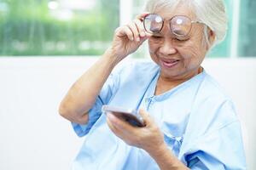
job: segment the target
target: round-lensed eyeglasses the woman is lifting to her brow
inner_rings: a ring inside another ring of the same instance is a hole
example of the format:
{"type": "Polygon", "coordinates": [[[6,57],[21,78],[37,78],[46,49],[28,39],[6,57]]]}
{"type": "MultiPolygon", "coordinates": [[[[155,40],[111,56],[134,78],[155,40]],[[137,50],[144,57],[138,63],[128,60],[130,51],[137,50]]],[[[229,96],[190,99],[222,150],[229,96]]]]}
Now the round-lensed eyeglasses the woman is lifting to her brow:
{"type": "MultiPolygon", "coordinates": [[[[159,14],[148,14],[143,19],[145,30],[152,34],[160,33],[164,26],[164,22],[165,20],[159,14]]],[[[189,17],[184,15],[176,15],[169,20],[172,34],[179,38],[188,37],[192,24],[194,23],[204,24],[200,21],[190,20],[189,17]]]]}

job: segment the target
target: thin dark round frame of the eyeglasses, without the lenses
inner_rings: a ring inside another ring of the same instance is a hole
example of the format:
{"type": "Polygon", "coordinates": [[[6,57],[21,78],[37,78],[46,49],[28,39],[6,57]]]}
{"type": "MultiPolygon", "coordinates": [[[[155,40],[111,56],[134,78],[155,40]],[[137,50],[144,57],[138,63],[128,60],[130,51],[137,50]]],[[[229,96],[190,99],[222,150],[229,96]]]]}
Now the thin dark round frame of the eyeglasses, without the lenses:
{"type": "MultiPolygon", "coordinates": [[[[155,13],[152,13],[152,14],[155,14],[155,13]]],[[[147,31],[146,26],[145,26],[145,18],[146,18],[148,15],[150,15],[150,14],[147,14],[147,15],[144,16],[144,18],[143,18],[143,26],[144,26],[145,31],[147,31]]],[[[156,15],[160,16],[160,14],[156,14],[156,15]]],[[[161,17],[161,16],[160,16],[160,18],[162,19],[162,26],[161,26],[161,28],[160,28],[160,31],[162,31],[166,20],[163,19],[163,17],[161,17]]],[[[191,20],[188,16],[186,16],[186,15],[179,15],[179,14],[172,16],[172,18],[171,18],[171,19],[168,19],[167,21],[169,21],[169,26],[170,26],[170,30],[172,31],[172,34],[174,34],[174,35],[177,36],[177,37],[187,37],[187,36],[189,35],[191,29],[192,29],[192,24],[203,24],[203,25],[206,25],[204,22],[201,22],[201,21],[199,21],[199,20],[191,20]],[[190,26],[189,31],[188,31],[188,33],[187,33],[186,35],[178,35],[178,34],[176,34],[174,31],[172,31],[171,20],[172,20],[174,17],[177,17],[177,16],[183,16],[183,17],[186,17],[186,18],[188,18],[188,19],[190,20],[191,26],[190,26]]],[[[158,31],[157,33],[160,33],[160,31],[158,31]]],[[[151,33],[151,32],[149,32],[149,33],[151,33]]]]}

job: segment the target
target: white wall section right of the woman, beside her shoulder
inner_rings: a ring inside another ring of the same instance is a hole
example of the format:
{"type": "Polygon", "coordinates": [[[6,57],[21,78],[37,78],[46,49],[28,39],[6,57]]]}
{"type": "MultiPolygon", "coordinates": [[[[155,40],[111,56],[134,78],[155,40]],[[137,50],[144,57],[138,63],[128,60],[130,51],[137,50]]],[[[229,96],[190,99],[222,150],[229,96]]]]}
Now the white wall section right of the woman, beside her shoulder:
{"type": "Polygon", "coordinates": [[[256,58],[207,59],[207,71],[230,94],[241,119],[247,169],[256,169],[256,58]]]}

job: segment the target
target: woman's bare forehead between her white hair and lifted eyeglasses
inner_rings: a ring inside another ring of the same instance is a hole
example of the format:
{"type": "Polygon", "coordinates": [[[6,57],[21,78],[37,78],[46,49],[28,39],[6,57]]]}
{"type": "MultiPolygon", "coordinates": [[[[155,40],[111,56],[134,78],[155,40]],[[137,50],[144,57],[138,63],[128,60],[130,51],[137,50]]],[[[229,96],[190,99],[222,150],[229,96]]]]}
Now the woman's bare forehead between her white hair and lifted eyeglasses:
{"type": "Polygon", "coordinates": [[[188,16],[190,20],[196,19],[195,11],[193,10],[193,8],[189,7],[189,5],[184,3],[173,5],[171,8],[156,8],[154,13],[160,14],[160,16],[165,20],[171,19],[175,15],[185,15],[188,16]]]}

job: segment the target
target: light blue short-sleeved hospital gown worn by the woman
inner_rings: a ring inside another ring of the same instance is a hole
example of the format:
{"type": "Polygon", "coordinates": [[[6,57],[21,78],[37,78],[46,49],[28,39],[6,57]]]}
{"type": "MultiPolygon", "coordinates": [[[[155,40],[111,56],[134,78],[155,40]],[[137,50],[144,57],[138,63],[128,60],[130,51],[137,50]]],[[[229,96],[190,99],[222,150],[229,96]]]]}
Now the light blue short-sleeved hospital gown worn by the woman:
{"type": "Polygon", "coordinates": [[[160,67],[136,62],[115,69],[104,84],[86,125],[72,123],[84,136],[73,170],[157,170],[145,150],[116,137],[102,105],[143,108],[154,117],[172,153],[191,169],[246,169],[240,122],[234,105],[206,71],[155,96],[160,67]]]}

